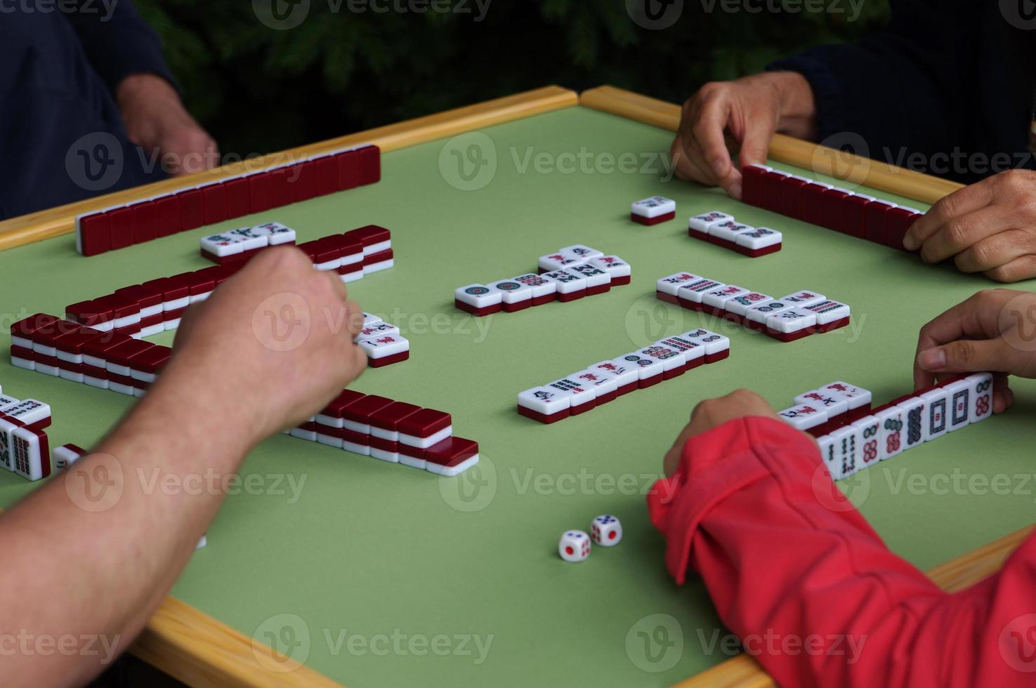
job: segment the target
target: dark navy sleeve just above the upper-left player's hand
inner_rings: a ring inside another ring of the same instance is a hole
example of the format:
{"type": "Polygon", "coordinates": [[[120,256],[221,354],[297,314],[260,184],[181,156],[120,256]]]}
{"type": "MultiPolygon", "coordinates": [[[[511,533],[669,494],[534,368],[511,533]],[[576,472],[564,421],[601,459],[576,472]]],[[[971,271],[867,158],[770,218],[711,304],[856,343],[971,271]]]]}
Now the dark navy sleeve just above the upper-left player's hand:
{"type": "Polygon", "coordinates": [[[176,87],[162,57],[162,45],[132,0],[75,0],[79,11],[65,15],[90,64],[112,93],[126,77],[153,74],[176,87]]]}

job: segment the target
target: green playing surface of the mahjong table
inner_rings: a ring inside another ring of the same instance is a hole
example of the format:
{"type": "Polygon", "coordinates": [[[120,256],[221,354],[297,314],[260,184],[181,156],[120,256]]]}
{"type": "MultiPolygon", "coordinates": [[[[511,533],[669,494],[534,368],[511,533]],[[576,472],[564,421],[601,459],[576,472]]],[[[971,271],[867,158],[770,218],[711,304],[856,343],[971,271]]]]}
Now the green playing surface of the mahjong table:
{"type": "MultiPolygon", "coordinates": [[[[386,153],[380,183],[213,228],[90,259],[68,236],[4,252],[0,345],[20,317],[60,315],[67,304],[206,266],[198,239],[215,229],[277,220],[305,240],[388,227],[395,267],[350,292],[402,328],[411,357],[353,386],[453,413],[455,433],[480,442],[482,463],[438,479],[275,436],[244,462],[251,487],[227,498],[173,595],[353,686],[668,685],[729,650],[700,581],[678,587],[667,575],[644,506],[694,404],[751,388],[783,408],[836,379],[872,390],[875,401],[905,394],[918,328],[991,286],[668,181],[657,156],[670,140],[571,108],[386,153]],[[481,176],[476,160],[488,162],[481,176]],[[615,170],[624,160],[637,164],[615,170]],[[631,223],[630,203],[652,195],[675,199],[678,220],[631,223]],[[784,249],[749,259],[688,238],[687,218],[713,209],[780,229],[784,249]],[[572,243],[625,258],[632,284],[484,319],[454,309],[456,287],[535,270],[538,256],[572,243]],[[678,270],[774,296],[818,290],[850,304],[853,322],[781,344],[657,300],[655,281],[678,270]],[[728,360],[551,426],[515,412],[522,390],[699,325],[730,337],[728,360]],[[583,564],[562,562],[562,532],[588,531],[602,513],[622,520],[623,543],[583,564]]],[[[154,341],[171,342],[171,333],[154,341]]],[[[0,384],[53,406],[52,446],[89,447],[133,403],[15,369],[6,355],[0,384]]],[[[929,568],[1033,522],[1036,389],[1017,383],[1016,394],[1010,413],[843,484],[894,551],[929,568]],[[998,476],[1009,489],[987,484],[998,476]]],[[[228,423],[234,413],[227,408],[228,423]]],[[[0,505],[34,487],[0,475],[0,505]]]]}

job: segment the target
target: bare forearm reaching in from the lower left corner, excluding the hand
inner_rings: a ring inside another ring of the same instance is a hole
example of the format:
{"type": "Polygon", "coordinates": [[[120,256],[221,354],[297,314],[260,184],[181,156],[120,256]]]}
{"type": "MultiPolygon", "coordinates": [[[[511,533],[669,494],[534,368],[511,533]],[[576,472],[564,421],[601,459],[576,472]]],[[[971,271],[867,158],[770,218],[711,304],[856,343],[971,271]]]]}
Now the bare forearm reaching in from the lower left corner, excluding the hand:
{"type": "Polygon", "coordinates": [[[0,633],[73,636],[81,651],[6,657],[13,685],[81,684],[103,670],[146,624],[223,500],[219,479],[248,443],[199,420],[208,414],[198,397],[164,382],[93,454],[0,518],[9,581],[0,633]]]}

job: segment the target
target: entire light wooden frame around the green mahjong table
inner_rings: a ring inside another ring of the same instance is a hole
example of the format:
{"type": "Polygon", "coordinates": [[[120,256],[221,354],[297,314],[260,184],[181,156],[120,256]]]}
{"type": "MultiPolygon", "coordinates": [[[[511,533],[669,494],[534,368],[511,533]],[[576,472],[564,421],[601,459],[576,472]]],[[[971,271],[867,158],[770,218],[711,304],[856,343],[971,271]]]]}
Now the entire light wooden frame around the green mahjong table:
{"type": "MultiPolygon", "coordinates": [[[[0,251],[71,233],[76,216],[83,212],[222,179],[239,173],[242,167],[249,170],[264,169],[285,160],[300,160],[315,153],[359,143],[374,143],[380,146],[382,151],[387,152],[577,106],[601,110],[669,131],[675,131],[680,123],[680,106],[663,101],[611,86],[601,86],[582,94],[557,86],[548,86],[13,218],[0,222],[0,251]]],[[[960,188],[959,184],[950,181],[782,135],[774,137],[770,146],[770,157],[812,169],[819,174],[838,178],[847,177],[871,189],[927,203],[933,203],[960,188]]],[[[83,258],[83,260],[89,259],[83,258]]],[[[998,571],[1007,556],[1031,532],[1032,528],[1029,527],[1012,533],[937,567],[928,572],[928,576],[944,590],[951,592],[972,585],[998,571]]],[[[286,672],[266,668],[266,665],[276,665],[270,648],[172,597],[167,597],[159,606],[144,631],[130,648],[130,652],[178,681],[196,688],[340,685],[303,665],[286,672]]],[[[692,686],[760,688],[774,685],[773,680],[746,655],[727,660],[680,684],[684,688],[692,686]]]]}

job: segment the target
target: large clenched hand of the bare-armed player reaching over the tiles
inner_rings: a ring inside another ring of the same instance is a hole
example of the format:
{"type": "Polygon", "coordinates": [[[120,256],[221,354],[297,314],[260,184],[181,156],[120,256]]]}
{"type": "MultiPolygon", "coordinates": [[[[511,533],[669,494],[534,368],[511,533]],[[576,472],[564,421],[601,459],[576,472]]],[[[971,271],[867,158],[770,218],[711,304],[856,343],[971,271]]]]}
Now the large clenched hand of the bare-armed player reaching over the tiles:
{"type": "MultiPolygon", "coordinates": [[[[190,394],[203,419],[233,417],[246,448],[319,412],[367,368],[363,325],[338,275],[300,251],[267,249],[192,305],[174,354],[145,397],[190,394]]],[[[194,406],[193,406],[194,407],[194,406]]]]}

